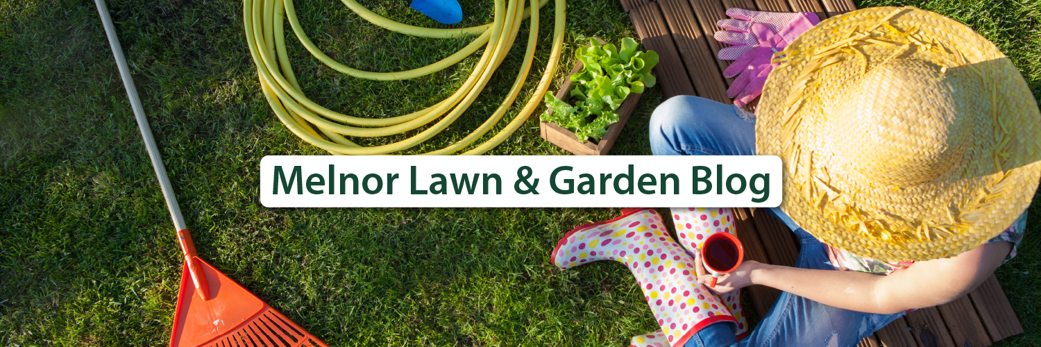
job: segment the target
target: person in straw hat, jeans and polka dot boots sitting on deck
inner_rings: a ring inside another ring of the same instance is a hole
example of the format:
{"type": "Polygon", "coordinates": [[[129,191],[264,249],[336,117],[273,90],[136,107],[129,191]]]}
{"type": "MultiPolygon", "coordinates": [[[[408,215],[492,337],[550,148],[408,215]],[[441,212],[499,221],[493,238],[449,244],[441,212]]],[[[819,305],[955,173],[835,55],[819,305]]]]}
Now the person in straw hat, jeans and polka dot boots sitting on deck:
{"type": "Polygon", "coordinates": [[[729,208],[674,208],[676,239],[654,209],[627,209],[553,250],[561,269],[630,269],[662,328],[634,346],[854,346],[1015,256],[1041,114],[992,43],[931,11],[873,7],[820,22],[770,64],[756,114],[674,97],[652,116],[651,147],[780,156],[784,201],[766,210],[802,242],[794,268],[745,261],[704,286],[700,242],[735,232],[729,208]],[[735,293],[752,284],[784,293],[748,331],[735,293]]]}

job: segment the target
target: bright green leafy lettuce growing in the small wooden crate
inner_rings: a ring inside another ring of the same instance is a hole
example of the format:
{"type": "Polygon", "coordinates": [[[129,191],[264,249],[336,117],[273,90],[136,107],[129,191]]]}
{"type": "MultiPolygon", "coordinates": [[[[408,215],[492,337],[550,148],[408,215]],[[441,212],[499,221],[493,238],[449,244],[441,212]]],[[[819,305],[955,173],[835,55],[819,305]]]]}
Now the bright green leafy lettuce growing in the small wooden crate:
{"type": "Polygon", "coordinates": [[[582,71],[569,77],[575,88],[568,95],[578,101],[573,106],[547,94],[549,109],[542,121],[557,123],[579,139],[603,138],[607,127],[618,121],[617,109],[626,97],[643,93],[657,82],[651,69],[658,65],[658,53],[637,51],[638,46],[626,38],[620,50],[611,44],[602,46],[595,39],[589,40],[589,46],[579,47],[575,57],[582,61],[582,71]]]}

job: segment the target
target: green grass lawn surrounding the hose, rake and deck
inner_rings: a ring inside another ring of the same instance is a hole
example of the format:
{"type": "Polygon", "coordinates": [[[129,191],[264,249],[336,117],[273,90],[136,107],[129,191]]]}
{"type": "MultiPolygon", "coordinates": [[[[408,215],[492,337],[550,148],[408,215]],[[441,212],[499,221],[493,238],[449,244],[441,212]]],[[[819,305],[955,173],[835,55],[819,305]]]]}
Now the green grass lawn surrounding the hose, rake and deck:
{"type": "MultiPolygon", "coordinates": [[[[438,26],[405,0],[361,3],[438,26]]],[[[461,3],[463,25],[490,21],[490,1],[461,3]]],[[[884,4],[897,3],[858,3],[884,4]]],[[[994,41],[1041,97],[1041,1],[915,4],[994,41]]],[[[324,152],[287,131],[263,100],[242,3],[108,6],[200,255],[326,342],[623,346],[658,328],[624,267],[549,263],[564,231],[617,208],[261,206],[261,157],[324,152]]],[[[362,70],[421,67],[467,43],[390,33],[334,0],[296,6],[316,45],[362,70]]],[[[542,10],[542,49],[520,100],[545,66],[552,9],[542,10]]],[[[614,0],[569,0],[568,14],[566,57],[587,36],[635,36],[614,0]]],[[[308,96],[355,116],[421,109],[455,91],[477,61],[410,81],[359,80],[287,35],[308,96]]],[[[443,147],[483,122],[513,82],[523,41],[460,121],[410,152],[443,147]]],[[[643,96],[613,154],[650,154],[645,129],[661,101],[658,88],[643,96]]],[[[538,139],[533,121],[492,153],[564,154],[538,139]]],[[[1041,202],[1030,219],[1019,256],[997,271],[1026,332],[1001,346],[1041,345],[1041,202]]],[[[167,344],[182,262],[173,231],[93,2],[0,0],[0,345],[167,344]]]]}

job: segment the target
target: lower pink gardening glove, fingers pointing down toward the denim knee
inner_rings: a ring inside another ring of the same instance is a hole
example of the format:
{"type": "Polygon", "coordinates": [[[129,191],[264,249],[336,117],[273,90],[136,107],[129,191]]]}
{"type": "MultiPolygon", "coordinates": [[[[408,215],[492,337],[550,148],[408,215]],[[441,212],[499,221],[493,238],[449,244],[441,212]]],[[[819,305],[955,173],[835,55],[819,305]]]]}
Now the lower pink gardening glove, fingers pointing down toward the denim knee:
{"type": "Polygon", "coordinates": [[[729,73],[728,77],[740,74],[727,90],[727,97],[734,99],[734,104],[738,106],[748,104],[763,93],[766,77],[777,66],[770,63],[773,53],[780,51],[775,47],[787,46],[784,38],[763,24],[753,23],[750,29],[759,44],[738,57],[725,72],[729,73]]]}

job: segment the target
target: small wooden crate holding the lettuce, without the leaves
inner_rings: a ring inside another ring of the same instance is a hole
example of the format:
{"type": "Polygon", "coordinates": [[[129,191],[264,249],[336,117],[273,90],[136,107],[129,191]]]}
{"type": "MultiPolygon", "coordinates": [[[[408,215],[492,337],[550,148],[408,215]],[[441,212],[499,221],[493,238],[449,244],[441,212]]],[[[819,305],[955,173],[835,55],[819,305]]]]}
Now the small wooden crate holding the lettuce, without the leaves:
{"type": "MultiPolygon", "coordinates": [[[[603,40],[600,41],[601,45],[606,44],[603,40]]],[[[567,76],[574,75],[579,71],[582,71],[582,61],[575,63],[575,69],[567,76]]],[[[560,86],[560,91],[557,91],[557,99],[568,102],[570,97],[568,94],[572,93],[572,89],[575,88],[575,82],[570,78],[564,80],[564,84],[560,86]]],[[[621,127],[626,126],[626,121],[629,120],[629,116],[632,116],[633,110],[636,109],[636,103],[639,102],[641,94],[630,93],[626,100],[621,102],[621,106],[618,107],[618,121],[607,127],[607,132],[604,133],[604,138],[600,139],[598,142],[585,141],[588,139],[579,140],[575,135],[575,132],[568,130],[565,127],[557,125],[553,122],[539,122],[538,123],[538,133],[542,139],[549,141],[550,143],[557,145],[557,147],[563,148],[564,150],[572,152],[575,155],[607,155],[611,151],[611,147],[614,146],[614,142],[618,140],[618,135],[621,133],[621,127]]],[[[552,110],[550,111],[552,114],[552,110]]]]}

